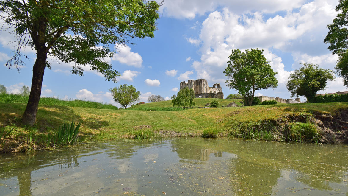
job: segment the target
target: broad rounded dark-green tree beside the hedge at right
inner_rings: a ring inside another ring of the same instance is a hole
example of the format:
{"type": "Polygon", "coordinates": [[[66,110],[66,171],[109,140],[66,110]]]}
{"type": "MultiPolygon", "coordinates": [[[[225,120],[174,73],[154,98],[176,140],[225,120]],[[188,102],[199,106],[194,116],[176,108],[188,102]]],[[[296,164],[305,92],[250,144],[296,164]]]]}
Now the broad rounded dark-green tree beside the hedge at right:
{"type": "Polygon", "coordinates": [[[324,90],[328,80],[333,81],[335,76],[329,69],[318,68],[318,65],[303,63],[300,69],[290,74],[286,88],[291,97],[305,96],[311,102],[319,90],[324,90]]]}

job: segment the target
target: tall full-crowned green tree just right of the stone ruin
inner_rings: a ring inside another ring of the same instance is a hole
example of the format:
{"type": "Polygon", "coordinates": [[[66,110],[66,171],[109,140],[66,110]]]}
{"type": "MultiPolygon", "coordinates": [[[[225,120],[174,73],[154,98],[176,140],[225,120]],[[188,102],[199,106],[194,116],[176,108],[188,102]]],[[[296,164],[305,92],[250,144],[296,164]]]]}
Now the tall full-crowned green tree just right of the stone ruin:
{"type": "Polygon", "coordinates": [[[259,48],[245,52],[232,50],[223,72],[230,78],[226,81],[227,86],[244,95],[246,106],[252,105],[256,90],[277,87],[277,72],[273,71],[262,52],[259,48]]]}

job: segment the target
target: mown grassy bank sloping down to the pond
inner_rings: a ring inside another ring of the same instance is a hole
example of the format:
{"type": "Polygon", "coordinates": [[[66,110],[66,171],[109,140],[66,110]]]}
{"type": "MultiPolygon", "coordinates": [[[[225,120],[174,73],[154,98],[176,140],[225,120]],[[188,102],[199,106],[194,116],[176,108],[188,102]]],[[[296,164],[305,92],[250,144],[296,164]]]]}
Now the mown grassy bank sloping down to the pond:
{"type": "MultiPolygon", "coordinates": [[[[4,131],[13,128],[10,137],[14,138],[14,143],[8,144],[13,145],[12,149],[15,149],[16,145],[18,147],[21,141],[27,141],[28,136],[31,136],[37,145],[47,144],[45,141],[47,134],[57,131],[64,120],[75,122],[83,120],[80,141],[85,142],[117,138],[182,136],[325,142],[322,138],[327,137],[325,119],[331,119],[333,124],[338,123],[334,121],[338,117],[341,121],[348,121],[344,119],[348,118],[347,115],[339,116],[339,112],[348,111],[348,103],[197,108],[181,111],[106,110],[39,105],[37,124],[34,127],[25,127],[21,126],[20,121],[24,108],[25,104],[0,103],[0,128],[4,131]],[[312,137],[307,137],[308,134],[312,134],[312,137]]],[[[343,133],[344,128],[337,128],[336,131],[343,133]]],[[[332,138],[326,140],[327,143],[332,142],[332,138]]],[[[25,148],[28,146],[17,151],[25,148]]]]}

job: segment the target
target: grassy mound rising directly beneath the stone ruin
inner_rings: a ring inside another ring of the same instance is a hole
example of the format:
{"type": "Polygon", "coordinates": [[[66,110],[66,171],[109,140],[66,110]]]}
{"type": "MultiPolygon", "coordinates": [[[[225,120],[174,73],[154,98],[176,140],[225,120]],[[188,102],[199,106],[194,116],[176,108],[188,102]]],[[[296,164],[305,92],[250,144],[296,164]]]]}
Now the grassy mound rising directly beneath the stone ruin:
{"type": "MultiPolygon", "coordinates": [[[[199,106],[199,107],[204,107],[205,104],[210,103],[212,100],[217,100],[220,104],[220,107],[222,105],[227,105],[231,102],[235,102],[237,105],[242,106],[243,104],[239,103],[239,101],[242,100],[238,100],[238,99],[215,99],[215,98],[196,98],[194,99],[196,105],[195,106],[199,106]]],[[[158,101],[155,103],[147,103],[147,104],[140,104],[140,105],[134,105],[131,108],[135,109],[135,108],[147,108],[147,107],[172,107],[172,101],[168,100],[168,101],[158,101]]]]}

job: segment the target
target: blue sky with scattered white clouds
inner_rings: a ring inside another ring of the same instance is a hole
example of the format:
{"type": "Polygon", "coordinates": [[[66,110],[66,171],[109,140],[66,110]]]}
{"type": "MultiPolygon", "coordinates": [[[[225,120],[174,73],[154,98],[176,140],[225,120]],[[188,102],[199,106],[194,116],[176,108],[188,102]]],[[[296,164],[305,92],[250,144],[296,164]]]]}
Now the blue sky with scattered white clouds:
{"type": "MultiPolygon", "coordinates": [[[[65,100],[92,100],[120,106],[109,89],[120,84],[134,85],[141,101],[151,95],[170,99],[180,90],[180,82],[206,79],[209,86],[220,83],[224,97],[238,93],[229,89],[223,74],[233,49],[264,50],[270,66],[277,72],[278,86],[261,89],[256,96],[291,98],[286,82],[300,63],[318,64],[332,69],[337,55],[332,55],[323,40],[326,26],[336,17],[338,0],[164,0],[153,38],[133,39],[134,45],[112,46],[118,51],[105,59],[121,76],[117,83],[105,81],[97,72],[85,67],[84,76],[71,74],[73,64],[49,58],[45,69],[41,97],[65,100]]],[[[9,93],[18,93],[23,85],[31,86],[35,51],[27,47],[28,56],[20,72],[7,67],[16,40],[9,31],[0,34],[0,84],[9,93]]],[[[329,81],[318,93],[348,91],[342,78],[329,81]]],[[[294,97],[295,98],[295,97],[294,97]]],[[[305,99],[300,97],[301,100],[305,99]]]]}

